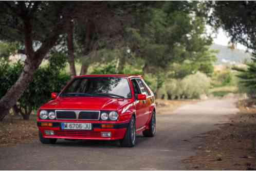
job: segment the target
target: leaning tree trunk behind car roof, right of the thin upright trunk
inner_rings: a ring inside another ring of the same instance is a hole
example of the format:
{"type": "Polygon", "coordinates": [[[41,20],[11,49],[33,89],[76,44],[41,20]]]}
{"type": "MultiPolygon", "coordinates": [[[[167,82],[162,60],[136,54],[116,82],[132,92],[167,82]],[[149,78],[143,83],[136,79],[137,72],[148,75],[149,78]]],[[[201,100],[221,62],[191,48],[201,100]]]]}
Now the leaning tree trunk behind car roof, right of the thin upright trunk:
{"type": "MultiPolygon", "coordinates": [[[[85,31],[86,31],[86,36],[85,36],[85,41],[84,41],[83,58],[88,58],[89,52],[92,51],[92,41],[93,41],[93,36],[95,33],[95,25],[92,20],[88,20],[88,22],[86,24],[85,31]]],[[[80,75],[86,74],[88,68],[89,68],[88,60],[84,59],[82,61],[80,75]]]]}

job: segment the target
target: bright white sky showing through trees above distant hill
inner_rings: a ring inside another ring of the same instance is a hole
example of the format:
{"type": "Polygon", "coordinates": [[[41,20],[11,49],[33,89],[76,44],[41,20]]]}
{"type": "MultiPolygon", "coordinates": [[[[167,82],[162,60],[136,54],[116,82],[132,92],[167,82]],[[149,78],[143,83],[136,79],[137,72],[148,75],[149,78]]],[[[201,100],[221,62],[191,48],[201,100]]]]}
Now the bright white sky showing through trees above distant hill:
{"type": "MultiPolygon", "coordinates": [[[[214,44],[228,46],[230,41],[230,37],[228,37],[227,33],[223,29],[219,29],[217,34],[211,33],[212,28],[210,26],[206,26],[207,32],[212,34],[214,44]]],[[[246,47],[241,44],[236,44],[237,49],[246,50],[246,47]]]]}

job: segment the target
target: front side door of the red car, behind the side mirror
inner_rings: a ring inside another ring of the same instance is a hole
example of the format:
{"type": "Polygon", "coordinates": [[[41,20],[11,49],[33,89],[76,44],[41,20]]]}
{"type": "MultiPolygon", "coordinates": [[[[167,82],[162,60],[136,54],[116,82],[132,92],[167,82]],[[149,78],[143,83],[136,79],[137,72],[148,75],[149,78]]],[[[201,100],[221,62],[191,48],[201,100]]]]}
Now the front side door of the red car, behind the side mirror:
{"type": "Polygon", "coordinates": [[[138,94],[141,94],[140,87],[135,78],[131,79],[133,91],[135,95],[135,109],[136,109],[136,130],[143,126],[144,103],[142,100],[137,100],[138,94]]]}

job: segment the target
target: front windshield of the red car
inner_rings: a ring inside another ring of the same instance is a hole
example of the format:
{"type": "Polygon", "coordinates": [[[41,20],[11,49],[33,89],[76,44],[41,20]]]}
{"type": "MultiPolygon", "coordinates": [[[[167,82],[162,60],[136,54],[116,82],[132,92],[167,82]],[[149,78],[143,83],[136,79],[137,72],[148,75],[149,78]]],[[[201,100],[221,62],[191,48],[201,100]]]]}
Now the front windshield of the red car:
{"type": "Polygon", "coordinates": [[[120,77],[84,77],[74,79],[61,97],[107,96],[132,98],[128,80],[120,77]]]}

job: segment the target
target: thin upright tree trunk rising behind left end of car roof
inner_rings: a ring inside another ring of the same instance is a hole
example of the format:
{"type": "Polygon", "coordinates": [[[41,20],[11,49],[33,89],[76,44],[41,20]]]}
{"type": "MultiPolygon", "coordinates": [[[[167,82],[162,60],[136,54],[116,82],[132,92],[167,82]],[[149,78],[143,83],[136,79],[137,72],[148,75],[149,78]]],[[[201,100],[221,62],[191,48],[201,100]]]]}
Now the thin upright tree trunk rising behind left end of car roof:
{"type": "Polygon", "coordinates": [[[74,23],[70,21],[67,33],[68,63],[71,77],[76,76],[75,55],[74,55],[74,23]]]}

